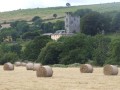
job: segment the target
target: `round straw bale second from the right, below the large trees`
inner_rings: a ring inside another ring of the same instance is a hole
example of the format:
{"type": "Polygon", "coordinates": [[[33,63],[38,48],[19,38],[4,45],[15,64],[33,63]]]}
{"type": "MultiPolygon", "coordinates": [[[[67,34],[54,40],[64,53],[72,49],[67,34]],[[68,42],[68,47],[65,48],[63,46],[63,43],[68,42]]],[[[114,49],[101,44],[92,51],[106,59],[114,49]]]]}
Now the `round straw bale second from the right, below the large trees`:
{"type": "Polygon", "coordinates": [[[82,64],[80,66],[80,72],[81,73],[92,73],[93,72],[93,67],[90,64],[82,64]]]}

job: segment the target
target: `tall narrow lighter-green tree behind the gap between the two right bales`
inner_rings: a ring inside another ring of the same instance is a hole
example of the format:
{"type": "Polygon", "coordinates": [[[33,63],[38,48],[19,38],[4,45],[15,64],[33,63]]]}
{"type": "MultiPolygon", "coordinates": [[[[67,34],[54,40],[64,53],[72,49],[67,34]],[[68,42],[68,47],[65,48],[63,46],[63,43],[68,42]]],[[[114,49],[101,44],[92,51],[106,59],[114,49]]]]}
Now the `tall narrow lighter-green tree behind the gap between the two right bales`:
{"type": "Polygon", "coordinates": [[[97,66],[103,66],[107,60],[111,39],[104,35],[97,35],[94,39],[94,64],[97,66]]]}

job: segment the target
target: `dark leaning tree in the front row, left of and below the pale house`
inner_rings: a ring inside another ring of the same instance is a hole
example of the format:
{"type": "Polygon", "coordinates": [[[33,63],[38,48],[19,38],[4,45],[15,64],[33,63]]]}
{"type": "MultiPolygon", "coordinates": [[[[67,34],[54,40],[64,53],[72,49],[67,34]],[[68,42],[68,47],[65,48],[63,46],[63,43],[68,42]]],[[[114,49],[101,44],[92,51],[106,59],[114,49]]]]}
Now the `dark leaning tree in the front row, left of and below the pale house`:
{"type": "Polygon", "coordinates": [[[24,58],[28,60],[36,60],[41,49],[50,41],[48,36],[36,37],[33,41],[28,43],[24,50],[24,58]]]}

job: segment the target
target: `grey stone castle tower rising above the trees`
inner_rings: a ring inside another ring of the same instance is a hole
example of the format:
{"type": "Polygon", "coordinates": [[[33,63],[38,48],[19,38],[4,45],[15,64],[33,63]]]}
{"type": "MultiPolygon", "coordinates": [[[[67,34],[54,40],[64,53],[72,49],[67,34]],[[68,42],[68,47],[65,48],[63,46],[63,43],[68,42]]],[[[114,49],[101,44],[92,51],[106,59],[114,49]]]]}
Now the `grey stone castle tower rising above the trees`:
{"type": "Polygon", "coordinates": [[[65,30],[67,34],[80,32],[80,17],[72,15],[71,12],[66,12],[65,30]]]}

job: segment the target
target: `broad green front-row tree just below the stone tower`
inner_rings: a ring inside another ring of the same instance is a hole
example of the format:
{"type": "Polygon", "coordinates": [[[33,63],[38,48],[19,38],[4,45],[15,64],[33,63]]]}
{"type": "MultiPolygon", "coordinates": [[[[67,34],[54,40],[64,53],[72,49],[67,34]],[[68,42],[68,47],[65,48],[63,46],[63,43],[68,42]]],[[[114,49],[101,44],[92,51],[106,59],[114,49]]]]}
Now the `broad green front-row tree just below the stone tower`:
{"type": "Polygon", "coordinates": [[[84,34],[74,35],[59,39],[63,43],[60,53],[60,63],[85,63],[92,59],[93,41],[90,36],[84,34]]]}

